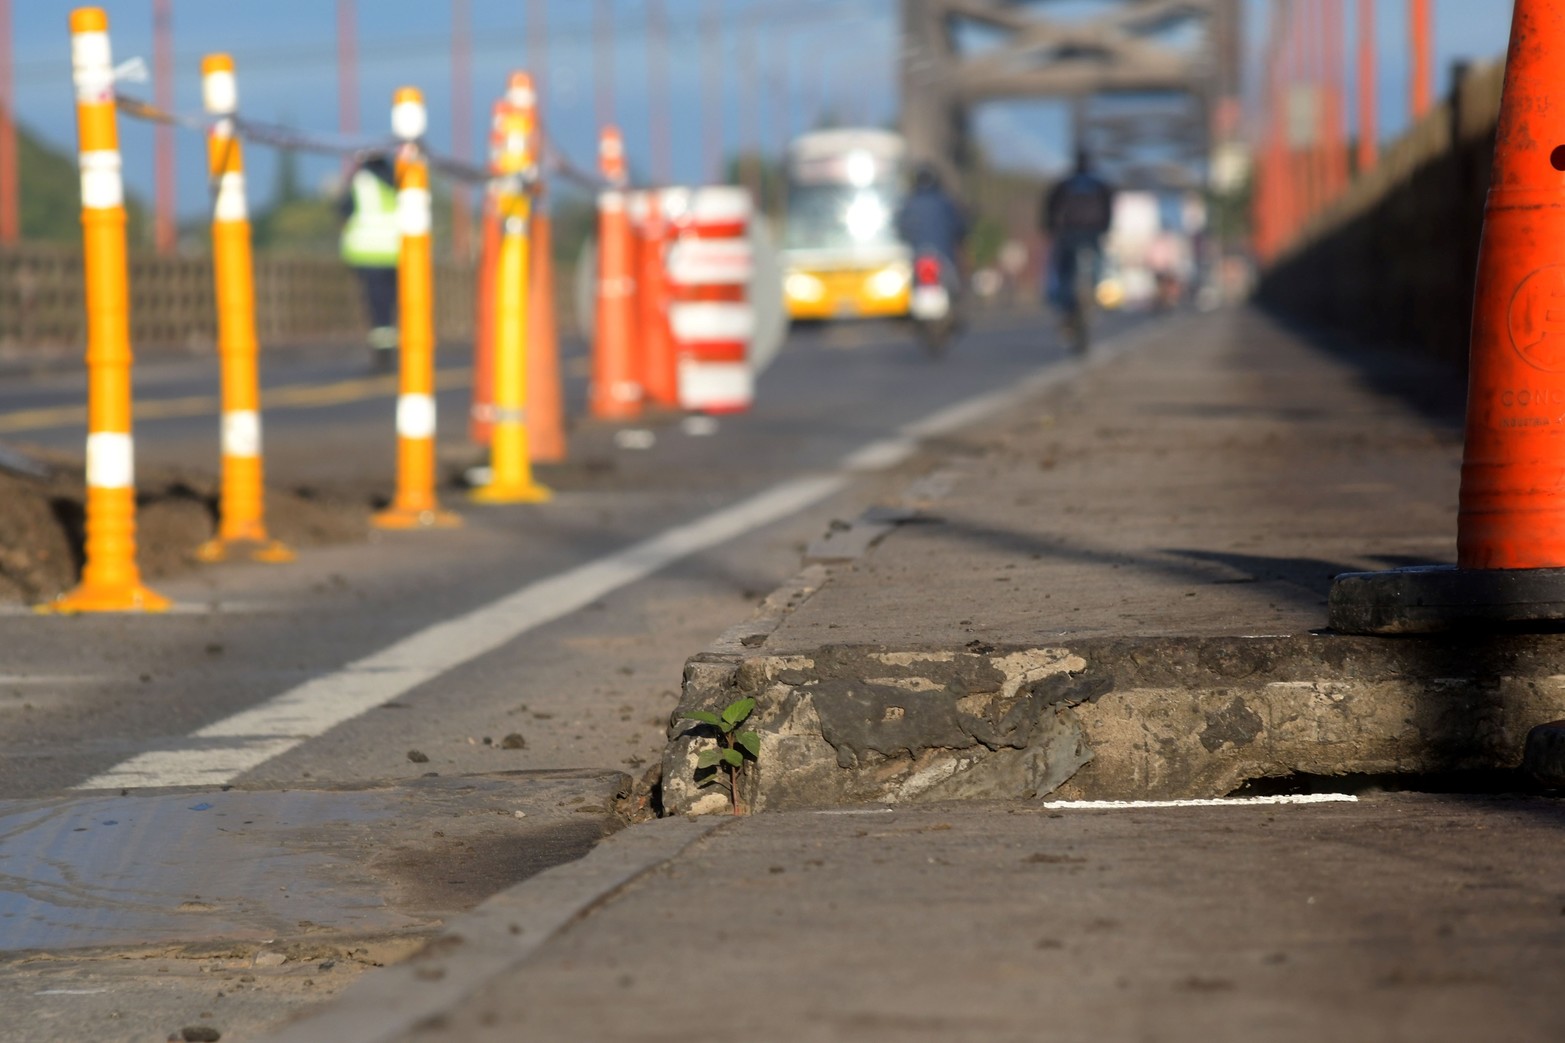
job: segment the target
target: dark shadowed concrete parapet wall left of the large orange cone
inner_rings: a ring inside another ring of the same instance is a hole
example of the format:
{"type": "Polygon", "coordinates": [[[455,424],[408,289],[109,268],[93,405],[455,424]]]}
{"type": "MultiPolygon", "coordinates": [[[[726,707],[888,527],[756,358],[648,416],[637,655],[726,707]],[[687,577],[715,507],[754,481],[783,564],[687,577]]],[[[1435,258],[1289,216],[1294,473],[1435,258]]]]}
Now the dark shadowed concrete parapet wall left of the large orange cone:
{"type": "Polygon", "coordinates": [[[1504,66],[1459,75],[1263,274],[1258,299],[1316,326],[1466,365],[1504,66]]]}

